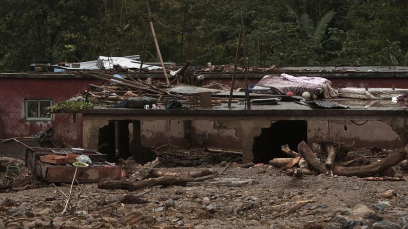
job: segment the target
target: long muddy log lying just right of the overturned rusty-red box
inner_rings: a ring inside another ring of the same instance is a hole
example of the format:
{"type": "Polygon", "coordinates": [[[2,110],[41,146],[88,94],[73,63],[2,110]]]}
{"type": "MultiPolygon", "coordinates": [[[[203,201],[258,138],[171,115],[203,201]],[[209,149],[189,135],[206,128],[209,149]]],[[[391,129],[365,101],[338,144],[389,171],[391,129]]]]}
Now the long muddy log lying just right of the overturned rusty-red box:
{"type": "Polygon", "coordinates": [[[185,186],[187,182],[191,182],[191,178],[185,177],[158,177],[149,178],[140,181],[101,181],[98,183],[98,189],[122,189],[122,190],[139,190],[158,185],[182,185],[185,186]]]}

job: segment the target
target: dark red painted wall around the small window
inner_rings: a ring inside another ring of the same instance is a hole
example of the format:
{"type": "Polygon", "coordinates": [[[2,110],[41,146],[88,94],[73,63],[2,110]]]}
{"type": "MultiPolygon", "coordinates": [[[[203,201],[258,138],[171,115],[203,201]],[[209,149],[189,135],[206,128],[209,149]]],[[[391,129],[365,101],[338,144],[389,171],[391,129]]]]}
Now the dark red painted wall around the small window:
{"type": "Polygon", "coordinates": [[[54,139],[82,146],[82,115],[57,114],[51,121],[26,120],[25,99],[50,98],[53,103],[65,101],[100,80],[82,78],[0,78],[0,117],[4,138],[34,136],[54,126],[54,139]]]}

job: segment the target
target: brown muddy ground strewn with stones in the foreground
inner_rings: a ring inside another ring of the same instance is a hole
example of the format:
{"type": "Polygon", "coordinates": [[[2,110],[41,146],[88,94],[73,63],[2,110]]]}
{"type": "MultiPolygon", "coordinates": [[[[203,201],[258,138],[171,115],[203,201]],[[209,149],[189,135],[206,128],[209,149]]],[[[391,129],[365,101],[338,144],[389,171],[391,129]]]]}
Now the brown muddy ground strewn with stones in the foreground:
{"type": "MultiPolygon", "coordinates": [[[[220,175],[225,162],[218,163],[218,159],[214,159],[217,164],[198,159],[193,167],[158,168],[177,173],[204,169],[216,172],[216,179],[187,186],[155,186],[130,192],[102,190],[98,184],[84,183],[70,191],[69,186],[38,181],[37,185],[44,188],[3,191],[0,228],[381,228],[373,223],[398,225],[397,217],[408,211],[406,180],[365,181],[323,175],[298,178],[271,165],[245,169],[237,162],[230,162],[220,175]],[[71,201],[64,212],[70,192],[71,201]],[[296,201],[304,205],[282,214],[296,206],[296,201]],[[362,215],[369,212],[373,219],[358,215],[356,211],[361,208],[365,209],[362,215]],[[339,215],[346,220],[343,222],[339,215]],[[352,225],[355,221],[357,227],[352,225]]],[[[129,176],[132,162],[126,163],[129,176]]],[[[13,179],[31,176],[22,170],[13,179]]],[[[408,178],[398,165],[394,170],[408,178]]],[[[0,177],[4,174],[0,173],[0,177]]],[[[383,228],[407,228],[404,222],[399,227],[383,228]]]]}

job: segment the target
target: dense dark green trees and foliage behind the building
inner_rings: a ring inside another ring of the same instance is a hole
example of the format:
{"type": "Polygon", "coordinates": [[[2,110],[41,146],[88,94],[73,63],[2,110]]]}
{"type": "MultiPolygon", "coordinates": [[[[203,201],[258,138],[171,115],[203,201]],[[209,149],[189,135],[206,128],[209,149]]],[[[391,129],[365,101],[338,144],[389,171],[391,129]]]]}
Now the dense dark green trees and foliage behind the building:
{"type": "MultiPolygon", "coordinates": [[[[146,2],[3,0],[0,70],[144,50],[158,61],[146,2]]],[[[249,65],[408,63],[405,0],[148,2],[165,61],[233,63],[242,15],[249,65]]]]}

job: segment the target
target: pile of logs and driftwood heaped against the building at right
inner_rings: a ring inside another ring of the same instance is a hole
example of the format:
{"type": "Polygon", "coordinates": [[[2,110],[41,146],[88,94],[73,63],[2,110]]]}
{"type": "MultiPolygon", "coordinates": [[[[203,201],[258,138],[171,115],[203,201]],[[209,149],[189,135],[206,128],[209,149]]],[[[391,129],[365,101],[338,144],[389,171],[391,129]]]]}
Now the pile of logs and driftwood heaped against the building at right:
{"type": "Polygon", "coordinates": [[[304,141],[298,145],[299,153],[283,145],[282,151],[290,157],[274,158],[269,161],[269,164],[286,171],[289,176],[324,174],[332,177],[368,177],[372,180],[405,180],[401,177],[394,177],[396,172],[392,167],[400,164],[401,170],[408,169],[406,149],[396,150],[389,154],[390,152],[372,148],[370,156],[367,156],[367,153],[361,156],[357,151],[352,151],[353,148],[349,145],[331,140],[321,140],[318,145],[316,153],[304,141]],[[383,159],[378,160],[379,158],[383,159]],[[372,162],[370,159],[376,159],[376,161],[372,162]]]}

